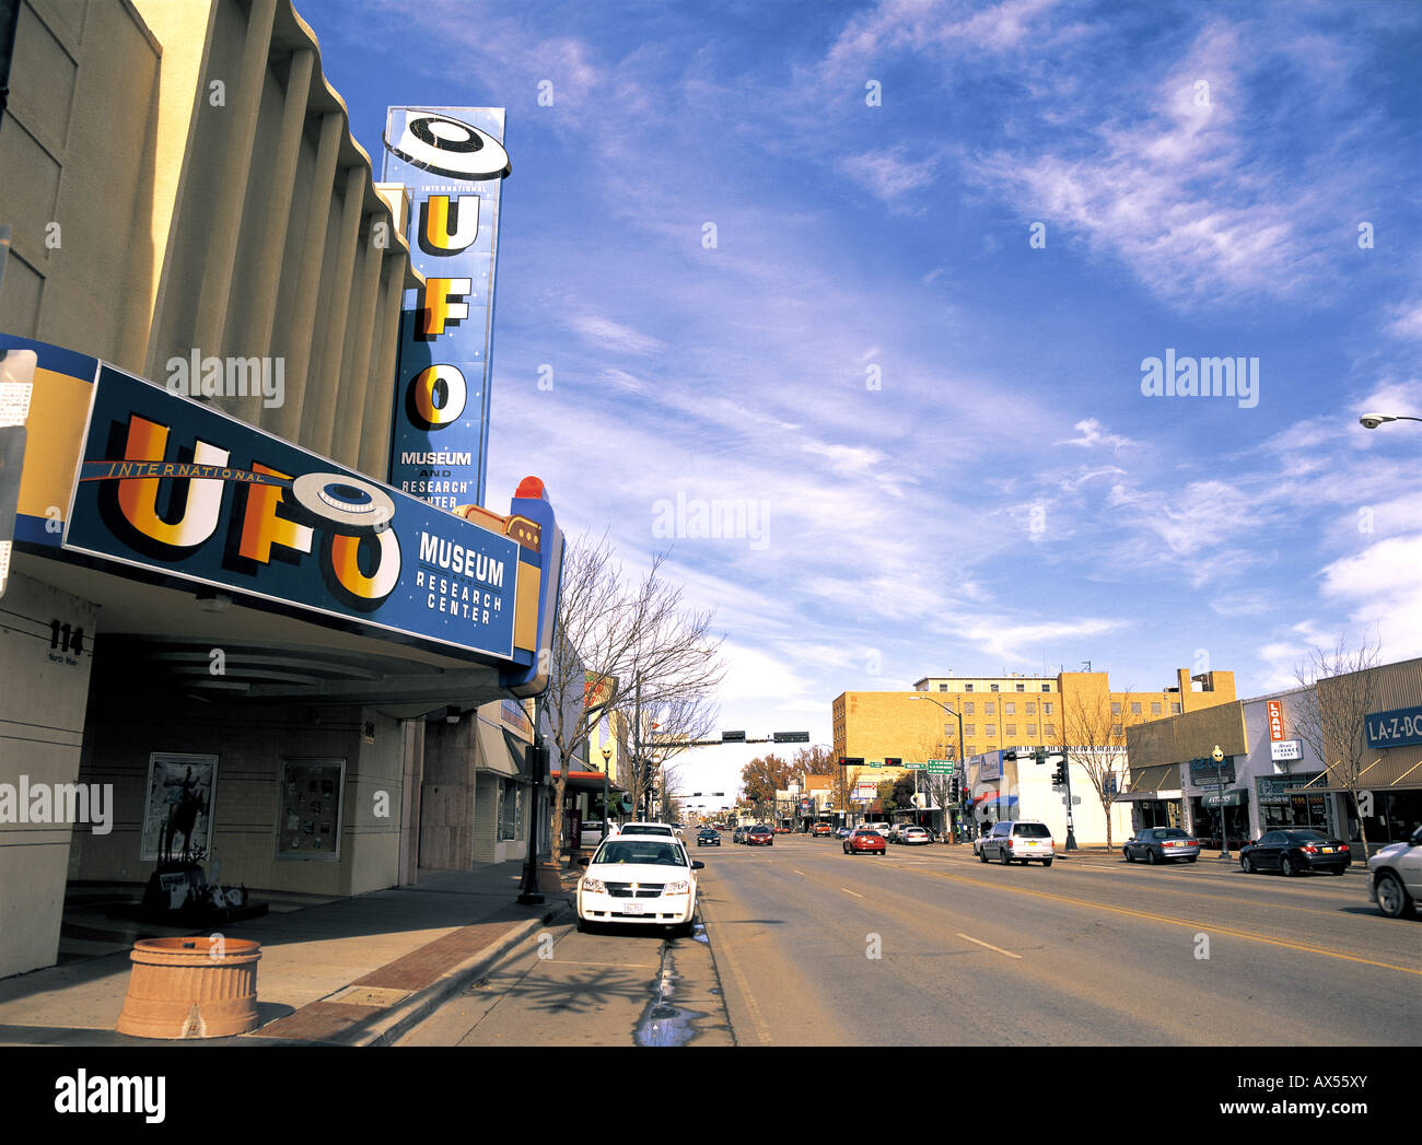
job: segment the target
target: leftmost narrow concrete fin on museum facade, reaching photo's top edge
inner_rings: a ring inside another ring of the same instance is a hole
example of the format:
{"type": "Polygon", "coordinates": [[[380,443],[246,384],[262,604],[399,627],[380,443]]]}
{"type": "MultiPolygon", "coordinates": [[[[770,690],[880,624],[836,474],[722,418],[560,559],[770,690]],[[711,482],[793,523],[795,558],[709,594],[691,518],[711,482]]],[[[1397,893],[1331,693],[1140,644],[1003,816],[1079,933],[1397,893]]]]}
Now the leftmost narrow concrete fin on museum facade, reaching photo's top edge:
{"type": "Polygon", "coordinates": [[[192,344],[203,354],[220,354],[228,321],[228,302],[232,294],[232,269],[237,260],[237,239],[242,235],[242,205],[252,179],[252,145],[257,134],[262,111],[262,88],[266,80],[267,57],[272,53],[272,23],[276,0],[252,0],[247,13],[247,37],[242,48],[242,71],[237,77],[236,98],[228,108],[229,127],[222,156],[222,178],[218,182],[218,202],[208,230],[208,262],[198,294],[198,317],[193,323],[192,344]]]}

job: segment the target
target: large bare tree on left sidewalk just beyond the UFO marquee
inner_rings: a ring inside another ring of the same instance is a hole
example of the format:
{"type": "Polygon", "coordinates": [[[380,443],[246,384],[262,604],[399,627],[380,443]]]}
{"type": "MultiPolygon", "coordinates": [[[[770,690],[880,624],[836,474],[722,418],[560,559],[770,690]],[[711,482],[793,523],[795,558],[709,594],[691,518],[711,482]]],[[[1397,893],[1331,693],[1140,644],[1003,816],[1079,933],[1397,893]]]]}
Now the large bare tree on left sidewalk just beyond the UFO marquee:
{"type": "MultiPolygon", "coordinates": [[[[569,545],[565,556],[553,647],[546,650],[545,708],[553,745],[563,761],[553,789],[555,863],[562,862],[569,764],[602,717],[617,707],[626,711],[626,704],[633,703],[631,742],[621,745],[619,758],[630,761],[634,782],[646,788],[654,772],[641,750],[643,705],[694,723],[704,718],[704,705],[725,674],[721,639],[711,634],[714,613],[684,610],[683,589],[663,575],[667,558],[668,553],[653,556],[651,566],[633,585],[614,559],[607,533],[599,539],[584,533],[569,545]],[[589,681],[596,686],[607,678],[617,681],[616,694],[590,704],[589,681]],[[701,704],[701,717],[695,717],[695,701],[701,704]]],[[[671,754],[675,751],[661,758],[671,754]]]]}

